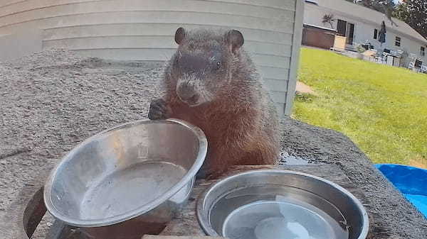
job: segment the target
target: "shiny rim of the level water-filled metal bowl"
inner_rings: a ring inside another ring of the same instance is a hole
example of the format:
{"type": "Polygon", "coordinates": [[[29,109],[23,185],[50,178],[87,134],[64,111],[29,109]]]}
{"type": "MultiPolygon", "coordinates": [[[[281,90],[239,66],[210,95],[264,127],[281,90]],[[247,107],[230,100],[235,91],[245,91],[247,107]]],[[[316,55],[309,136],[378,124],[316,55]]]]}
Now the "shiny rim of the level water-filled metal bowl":
{"type": "Polygon", "coordinates": [[[368,213],[367,213],[366,209],[364,208],[363,204],[359,201],[359,199],[357,199],[347,189],[344,189],[343,187],[339,186],[338,184],[335,184],[334,182],[331,182],[327,179],[324,179],[322,177],[317,177],[317,176],[312,175],[312,174],[292,171],[292,170],[288,170],[288,169],[253,169],[253,170],[248,170],[246,172],[238,172],[236,174],[231,174],[230,176],[224,177],[223,179],[219,179],[217,182],[214,182],[213,184],[211,184],[201,194],[201,196],[199,196],[199,198],[197,199],[197,202],[196,202],[196,216],[197,216],[197,219],[199,221],[201,228],[204,230],[204,232],[207,235],[220,236],[216,232],[216,230],[214,230],[214,228],[212,228],[212,226],[211,226],[210,219],[209,219],[209,214],[210,214],[211,209],[209,209],[209,211],[203,210],[204,204],[206,201],[206,197],[209,196],[209,194],[211,194],[211,192],[214,191],[217,187],[220,187],[222,184],[226,184],[227,182],[235,179],[236,177],[242,177],[244,175],[257,174],[257,173],[296,174],[298,176],[310,177],[312,179],[317,179],[317,180],[324,182],[326,184],[330,184],[330,186],[332,186],[334,189],[337,189],[338,191],[341,191],[344,195],[348,196],[349,199],[357,206],[357,209],[359,209],[359,211],[362,215],[362,221],[363,221],[362,222],[362,224],[363,224],[362,225],[362,231],[360,232],[357,239],[366,239],[367,238],[367,235],[369,233],[369,216],[368,216],[368,213]]]}

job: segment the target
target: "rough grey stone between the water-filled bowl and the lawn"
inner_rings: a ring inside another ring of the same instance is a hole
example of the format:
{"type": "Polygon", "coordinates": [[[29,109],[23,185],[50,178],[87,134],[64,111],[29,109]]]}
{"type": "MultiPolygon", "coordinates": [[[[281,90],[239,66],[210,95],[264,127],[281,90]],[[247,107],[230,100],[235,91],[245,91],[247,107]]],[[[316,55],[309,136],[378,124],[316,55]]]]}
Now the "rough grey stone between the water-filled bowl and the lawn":
{"type": "Polygon", "coordinates": [[[375,217],[371,238],[427,238],[427,220],[382,176],[367,155],[347,136],[334,130],[310,126],[292,118],[283,120],[283,150],[310,162],[336,164],[350,181],[362,189],[375,217]]]}

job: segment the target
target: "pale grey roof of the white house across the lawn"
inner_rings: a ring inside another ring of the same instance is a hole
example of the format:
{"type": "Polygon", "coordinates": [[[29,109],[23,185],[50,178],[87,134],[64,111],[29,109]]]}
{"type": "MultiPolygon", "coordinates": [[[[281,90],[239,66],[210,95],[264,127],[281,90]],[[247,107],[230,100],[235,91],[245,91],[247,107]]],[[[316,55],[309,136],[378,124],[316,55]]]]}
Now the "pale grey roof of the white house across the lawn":
{"type": "Polygon", "coordinates": [[[387,30],[392,30],[396,33],[403,33],[404,35],[415,38],[427,45],[427,39],[423,38],[423,36],[411,28],[411,26],[396,18],[393,18],[393,21],[398,26],[394,24],[391,26],[389,19],[384,15],[384,13],[380,13],[379,11],[374,11],[367,7],[344,0],[318,0],[317,5],[333,11],[342,12],[343,15],[351,15],[354,18],[359,18],[360,21],[377,24],[379,27],[381,26],[381,22],[384,21],[386,23],[387,30]]]}

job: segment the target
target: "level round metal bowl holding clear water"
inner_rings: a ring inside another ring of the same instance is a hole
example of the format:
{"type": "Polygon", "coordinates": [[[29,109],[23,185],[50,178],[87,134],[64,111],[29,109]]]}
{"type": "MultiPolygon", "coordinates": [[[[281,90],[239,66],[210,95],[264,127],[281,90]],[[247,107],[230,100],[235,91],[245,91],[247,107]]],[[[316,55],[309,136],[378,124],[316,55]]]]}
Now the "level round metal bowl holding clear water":
{"type": "Polygon", "coordinates": [[[197,204],[208,235],[230,239],[365,239],[367,212],[349,191],[320,177],[280,169],[216,182],[197,204]]]}

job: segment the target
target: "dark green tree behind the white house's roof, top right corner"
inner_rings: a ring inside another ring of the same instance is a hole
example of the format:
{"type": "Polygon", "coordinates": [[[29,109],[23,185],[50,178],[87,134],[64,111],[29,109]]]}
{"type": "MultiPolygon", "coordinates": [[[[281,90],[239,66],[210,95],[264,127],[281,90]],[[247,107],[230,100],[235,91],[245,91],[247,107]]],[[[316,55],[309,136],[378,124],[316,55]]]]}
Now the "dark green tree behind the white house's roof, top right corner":
{"type": "Polygon", "coordinates": [[[406,0],[396,6],[394,16],[401,21],[408,23],[427,38],[427,1],[426,0],[406,0]]]}

